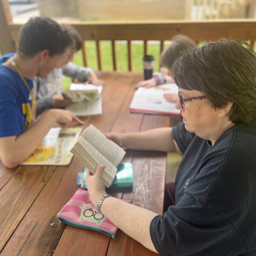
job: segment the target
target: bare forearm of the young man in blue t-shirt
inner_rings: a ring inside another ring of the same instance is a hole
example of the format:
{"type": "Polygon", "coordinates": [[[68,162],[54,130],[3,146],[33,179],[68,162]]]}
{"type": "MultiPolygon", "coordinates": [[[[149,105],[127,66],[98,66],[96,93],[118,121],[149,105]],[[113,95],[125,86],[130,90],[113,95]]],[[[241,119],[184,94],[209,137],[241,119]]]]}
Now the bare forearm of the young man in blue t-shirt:
{"type": "Polygon", "coordinates": [[[8,168],[19,165],[35,151],[54,123],[49,111],[19,136],[0,138],[0,160],[8,168]]]}

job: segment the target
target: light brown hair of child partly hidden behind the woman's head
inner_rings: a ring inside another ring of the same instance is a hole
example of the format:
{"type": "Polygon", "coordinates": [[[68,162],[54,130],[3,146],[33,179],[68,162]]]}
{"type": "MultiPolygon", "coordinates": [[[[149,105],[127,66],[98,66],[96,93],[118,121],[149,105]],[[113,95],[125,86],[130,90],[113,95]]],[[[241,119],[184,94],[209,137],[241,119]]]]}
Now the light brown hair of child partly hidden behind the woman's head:
{"type": "Polygon", "coordinates": [[[172,44],[166,48],[160,57],[163,67],[171,70],[173,63],[180,57],[180,52],[185,49],[195,48],[198,45],[186,35],[175,35],[172,44]]]}

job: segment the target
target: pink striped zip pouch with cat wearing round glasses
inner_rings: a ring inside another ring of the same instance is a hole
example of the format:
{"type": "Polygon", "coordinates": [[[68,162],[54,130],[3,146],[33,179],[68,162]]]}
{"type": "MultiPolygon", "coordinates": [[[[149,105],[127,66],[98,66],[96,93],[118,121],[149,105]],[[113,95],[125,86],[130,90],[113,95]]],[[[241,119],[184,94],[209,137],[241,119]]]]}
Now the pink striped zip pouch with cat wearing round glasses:
{"type": "MultiPolygon", "coordinates": [[[[129,200],[122,201],[129,202],[129,200]]],[[[58,223],[51,226],[58,226],[64,222],[74,227],[87,228],[102,232],[115,238],[117,227],[102,213],[97,212],[96,207],[90,201],[87,190],[78,189],[73,197],[57,214],[58,223]]]]}

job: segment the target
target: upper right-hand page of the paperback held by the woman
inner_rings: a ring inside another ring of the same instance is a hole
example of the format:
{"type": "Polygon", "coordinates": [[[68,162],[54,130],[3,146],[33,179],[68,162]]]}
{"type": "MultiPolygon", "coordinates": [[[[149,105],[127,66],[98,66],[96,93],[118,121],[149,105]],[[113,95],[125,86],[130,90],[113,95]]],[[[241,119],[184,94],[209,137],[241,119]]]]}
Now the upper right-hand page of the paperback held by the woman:
{"type": "Polygon", "coordinates": [[[93,125],[86,128],[81,134],[81,137],[87,140],[94,148],[97,148],[114,166],[117,166],[125,155],[125,151],[119,145],[108,140],[93,125]]]}

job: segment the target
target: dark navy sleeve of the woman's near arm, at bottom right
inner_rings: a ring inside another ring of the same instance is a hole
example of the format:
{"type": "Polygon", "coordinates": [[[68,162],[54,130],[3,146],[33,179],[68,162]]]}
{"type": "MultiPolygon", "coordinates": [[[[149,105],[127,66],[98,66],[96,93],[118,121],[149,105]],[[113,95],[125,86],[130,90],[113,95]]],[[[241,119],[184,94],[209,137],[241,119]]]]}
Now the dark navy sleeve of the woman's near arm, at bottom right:
{"type": "Polygon", "coordinates": [[[153,218],[150,236],[161,255],[238,255],[247,251],[226,218],[189,194],[164,215],[153,218]]]}

